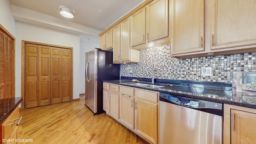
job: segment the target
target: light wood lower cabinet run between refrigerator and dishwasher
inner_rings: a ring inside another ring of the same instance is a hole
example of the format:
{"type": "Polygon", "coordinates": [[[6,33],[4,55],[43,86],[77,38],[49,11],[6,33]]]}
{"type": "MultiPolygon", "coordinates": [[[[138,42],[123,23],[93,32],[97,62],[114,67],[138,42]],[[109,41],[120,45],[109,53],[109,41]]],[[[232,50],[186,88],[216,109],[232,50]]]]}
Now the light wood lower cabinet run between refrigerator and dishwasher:
{"type": "Polygon", "coordinates": [[[103,108],[107,114],[151,144],[158,144],[159,92],[119,85],[118,117],[114,114],[117,112],[114,109],[117,108],[117,91],[110,94],[108,85],[103,83],[103,108]],[[112,102],[111,99],[113,99],[112,102]]]}

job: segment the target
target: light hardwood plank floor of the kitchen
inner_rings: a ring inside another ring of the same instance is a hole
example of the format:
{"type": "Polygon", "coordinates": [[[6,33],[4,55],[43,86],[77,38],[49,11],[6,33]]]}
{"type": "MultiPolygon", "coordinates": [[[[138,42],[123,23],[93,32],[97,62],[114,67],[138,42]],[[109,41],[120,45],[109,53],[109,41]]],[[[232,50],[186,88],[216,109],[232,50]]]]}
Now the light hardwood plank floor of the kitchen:
{"type": "MultiPolygon", "coordinates": [[[[20,110],[20,139],[28,144],[148,144],[108,116],[93,116],[80,101],[20,110]]],[[[24,144],[24,143],[22,143],[24,144]]]]}

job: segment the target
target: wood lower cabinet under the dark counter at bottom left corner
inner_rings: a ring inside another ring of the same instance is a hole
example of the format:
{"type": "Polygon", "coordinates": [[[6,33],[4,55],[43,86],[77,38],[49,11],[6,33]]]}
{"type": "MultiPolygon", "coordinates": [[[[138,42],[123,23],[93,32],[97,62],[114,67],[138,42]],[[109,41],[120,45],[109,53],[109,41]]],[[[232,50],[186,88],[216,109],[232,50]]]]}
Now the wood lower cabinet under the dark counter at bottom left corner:
{"type": "Polygon", "coordinates": [[[15,110],[10,114],[10,116],[8,116],[8,118],[1,124],[2,137],[0,144],[17,144],[15,140],[19,138],[19,126],[16,124],[18,120],[19,107],[16,107],[15,110]],[[2,142],[2,139],[8,141],[2,142]]]}

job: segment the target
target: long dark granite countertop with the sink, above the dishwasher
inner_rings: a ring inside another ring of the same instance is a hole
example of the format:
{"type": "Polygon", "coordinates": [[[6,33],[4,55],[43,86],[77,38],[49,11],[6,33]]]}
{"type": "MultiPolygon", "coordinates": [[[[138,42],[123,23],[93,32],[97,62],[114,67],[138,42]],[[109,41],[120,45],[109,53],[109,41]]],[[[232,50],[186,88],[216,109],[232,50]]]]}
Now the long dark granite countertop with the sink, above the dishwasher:
{"type": "MultiPolygon", "coordinates": [[[[232,85],[221,82],[164,82],[163,80],[156,80],[155,85],[164,86],[162,88],[150,88],[147,86],[134,86],[131,80],[105,80],[112,84],[118,84],[123,86],[130,86],[134,88],[141,88],[145,90],[153,90],[157,92],[163,92],[167,94],[173,94],[177,96],[183,96],[187,98],[195,98],[200,100],[208,100],[211,102],[219,102],[222,104],[232,104],[236,106],[243,106],[248,108],[256,108],[256,94],[242,93],[232,91],[232,85]],[[169,84],[168,84],[169,83],[169,84]]],[[[151,84],[150,82],[141,82],[144,84],[151,84]]]]}

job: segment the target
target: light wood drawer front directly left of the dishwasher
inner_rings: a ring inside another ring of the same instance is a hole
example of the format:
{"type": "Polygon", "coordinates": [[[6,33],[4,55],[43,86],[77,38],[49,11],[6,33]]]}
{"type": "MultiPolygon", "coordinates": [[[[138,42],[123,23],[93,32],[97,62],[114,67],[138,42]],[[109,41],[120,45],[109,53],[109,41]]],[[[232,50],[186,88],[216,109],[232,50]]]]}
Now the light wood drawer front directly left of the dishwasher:
{"type": "Polygon", "coordinates": [[[134,90],[134,95],[136,98],[150,101],[150,102],[158,102],[158,92],[152,92],[152,91],[147,91],[147,90],[141,90],[141,89],[135,89],[134,90]]]}

